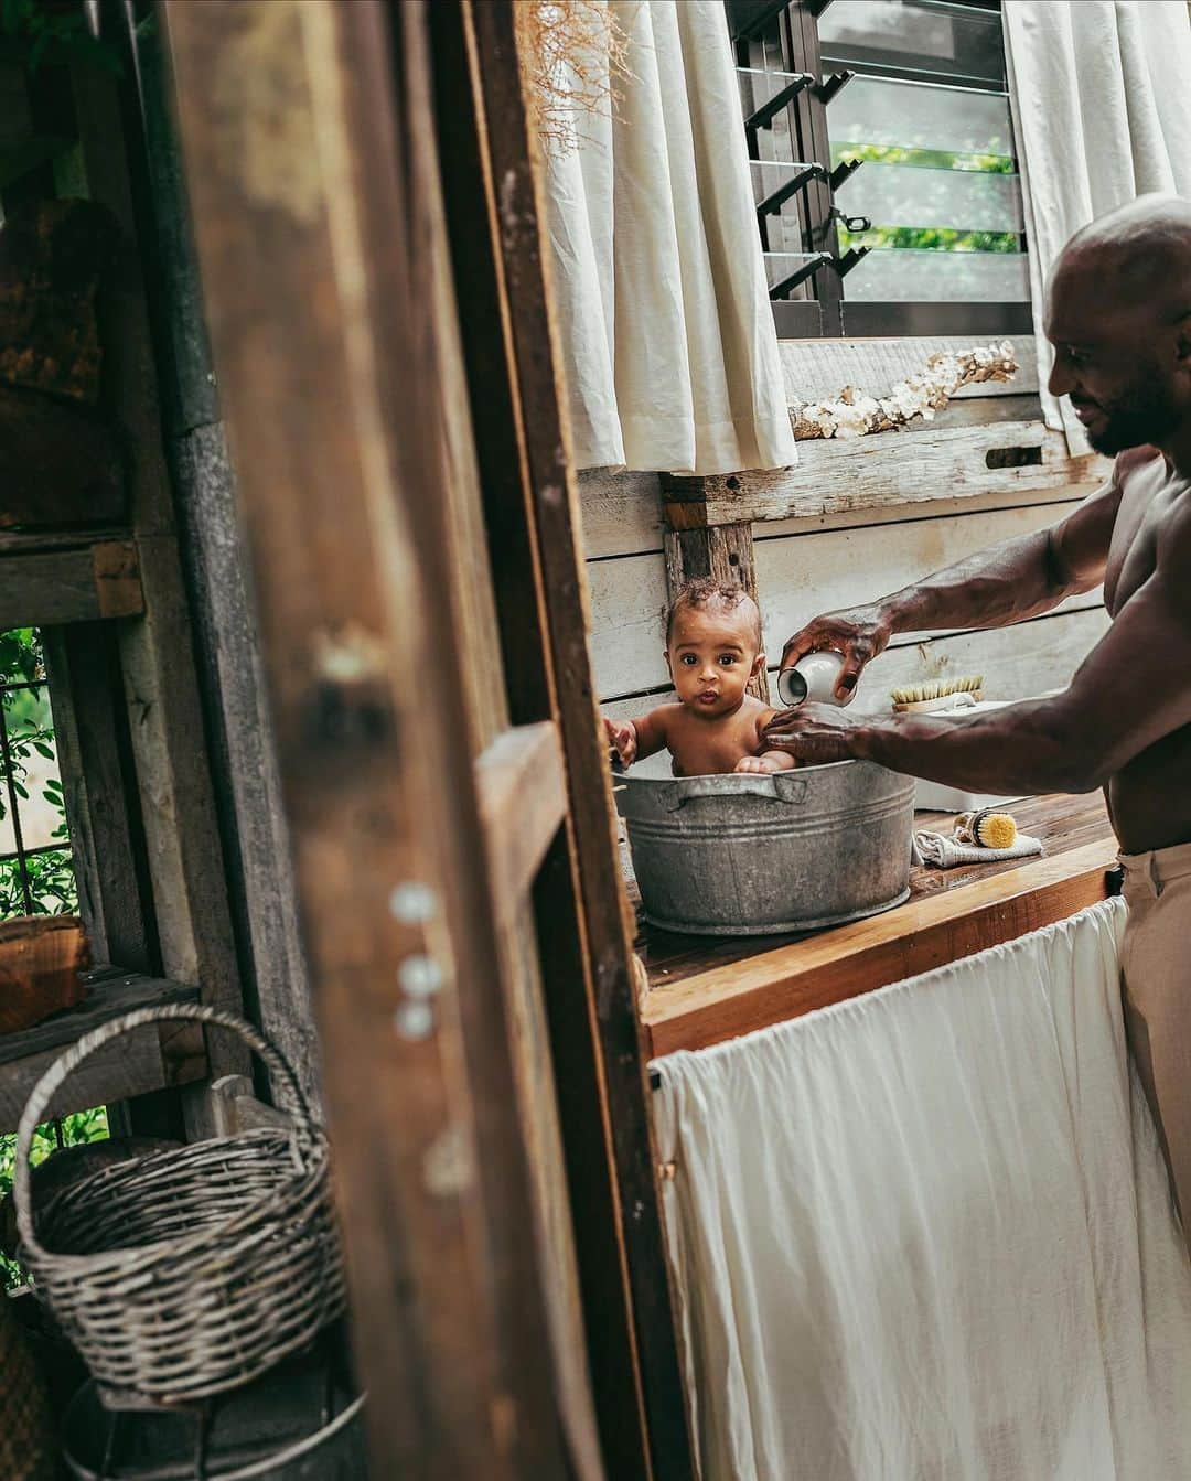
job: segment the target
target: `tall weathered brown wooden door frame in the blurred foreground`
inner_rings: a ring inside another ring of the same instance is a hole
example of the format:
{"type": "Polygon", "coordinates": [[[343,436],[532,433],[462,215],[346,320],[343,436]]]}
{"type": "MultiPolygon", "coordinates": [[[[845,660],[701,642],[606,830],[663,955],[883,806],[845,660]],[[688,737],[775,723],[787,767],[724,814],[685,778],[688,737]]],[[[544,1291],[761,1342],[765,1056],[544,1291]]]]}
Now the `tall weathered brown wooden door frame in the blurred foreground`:
{"type": "Polygon", "coordinates": [[[547,1481],[598,1468],[560,1422],[499,966],[502,917],[536,881],[556,1066],[554,1087],[541,1090],[558,1097],[604,1468],[615,1481],[684,1481],[511,6],[172,0],[166,13],[292,820],[376,1475],[547,1481]],[[470,191],[476,212],[476,256],[456,255],[455,275],[468,293],[468,397],[514,721],[478,766],[474,674],[470,687],[447,600],[461,573],[440,498],[452,468],[418,107],[428,101],[428,18],[436,62],[447,47],[465,61],[437,117],[447,204],[470,191]],[[458,129],[446,123],[452,108],[458,129]],[[478,321],[468,267],[495,289],[478,321]],[[504,432],[498,407],[513,413],[504,432]],[[511,572],[518,591],[504,579],[511,572]],[[566,791],[551,813],[561,766],[538,758],[560,758],[558,739],[566,791]],[[508,803],[518,788],[532,804],[521,810],[508,803]],[[529,846],[496,826],[529,815],[529,846]]]}

